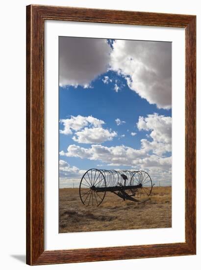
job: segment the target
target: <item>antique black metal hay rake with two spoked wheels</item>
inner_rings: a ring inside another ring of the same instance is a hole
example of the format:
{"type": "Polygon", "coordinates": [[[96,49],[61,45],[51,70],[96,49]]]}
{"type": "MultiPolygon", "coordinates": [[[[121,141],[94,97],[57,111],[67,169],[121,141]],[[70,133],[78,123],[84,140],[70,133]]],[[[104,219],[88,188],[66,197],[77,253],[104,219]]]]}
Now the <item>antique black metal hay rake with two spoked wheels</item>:
{"type": "Polygon", "coordinates": [[[152,188],[145,171],[90,169],[82,176],[79,196],[85,206],[99,206],[108,191],[123,200],[139,202],[150,196],[152,188]]]}

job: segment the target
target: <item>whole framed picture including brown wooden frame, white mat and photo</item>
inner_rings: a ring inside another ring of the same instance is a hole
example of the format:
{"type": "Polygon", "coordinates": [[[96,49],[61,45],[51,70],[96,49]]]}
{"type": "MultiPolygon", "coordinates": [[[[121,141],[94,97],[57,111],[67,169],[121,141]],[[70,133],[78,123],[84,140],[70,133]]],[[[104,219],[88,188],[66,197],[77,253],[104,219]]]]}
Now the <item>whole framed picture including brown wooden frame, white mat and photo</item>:
{"type": "Polygon", "coordinates": [[[196,254],[195,153],[196,16],[26,7],[28,265],[196,254]]]}

